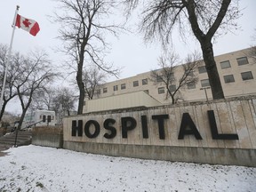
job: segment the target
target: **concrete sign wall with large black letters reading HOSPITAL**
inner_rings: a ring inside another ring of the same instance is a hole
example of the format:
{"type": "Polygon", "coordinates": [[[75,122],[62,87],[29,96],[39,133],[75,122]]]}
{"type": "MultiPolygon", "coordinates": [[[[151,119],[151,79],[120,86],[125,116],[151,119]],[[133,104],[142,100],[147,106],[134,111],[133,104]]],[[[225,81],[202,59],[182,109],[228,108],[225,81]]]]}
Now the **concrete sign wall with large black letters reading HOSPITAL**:
{"type": "Polygon", "coordinates": [[[256,164],[255,98],[134,109],[65,118],[64,148],[110,156],[256,164]]]}

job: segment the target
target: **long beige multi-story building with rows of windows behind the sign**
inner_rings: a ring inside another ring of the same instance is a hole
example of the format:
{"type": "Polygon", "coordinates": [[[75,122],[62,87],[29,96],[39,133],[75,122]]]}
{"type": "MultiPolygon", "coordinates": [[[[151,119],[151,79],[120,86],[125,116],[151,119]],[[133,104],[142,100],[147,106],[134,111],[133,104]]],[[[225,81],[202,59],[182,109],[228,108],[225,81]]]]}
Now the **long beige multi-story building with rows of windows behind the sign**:
{"type": "MultiPolygon", "coordinates": [[[[249,56],[251,51],[252,48],[248,48],[215,57],[225,98],[256,94],[256,59],[249,56]]],[[[181,65],[176,68],[174,76],[179,76],[181,65]]],[[[150,73],[148,71],[137,76],[102,84],[100,89],[96,90],[94,99],[144,91],[160,103],[170,104],[172,100],[166,99],[165,84],[152,82],[150,73]]],[[[179,98],[183,101],[211,100],[212,92],[204,61],[193,71],[193,74],[198,77],[197,83],[181,88],[179,98]]],[[[86,105],[86,101],[84,103],[86,105]]]]}

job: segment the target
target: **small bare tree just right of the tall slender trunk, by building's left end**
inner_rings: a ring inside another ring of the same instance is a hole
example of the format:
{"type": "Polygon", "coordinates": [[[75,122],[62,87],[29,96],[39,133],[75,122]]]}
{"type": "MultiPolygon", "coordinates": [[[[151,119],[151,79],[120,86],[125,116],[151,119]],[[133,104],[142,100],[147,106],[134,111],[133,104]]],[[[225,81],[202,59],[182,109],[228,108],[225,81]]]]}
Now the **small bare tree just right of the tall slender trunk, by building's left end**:
{"type": "Polygon", "coordinates": [[[89,67],[86,68],[86,70],[84,70],[83,82],[85,95],[88,98],[88,100],[93,99],[96,89],[100,89],[100,84],[105,83],[106,77],[106,72],[99,71],[98,68],[95,67],[89,67]]]}

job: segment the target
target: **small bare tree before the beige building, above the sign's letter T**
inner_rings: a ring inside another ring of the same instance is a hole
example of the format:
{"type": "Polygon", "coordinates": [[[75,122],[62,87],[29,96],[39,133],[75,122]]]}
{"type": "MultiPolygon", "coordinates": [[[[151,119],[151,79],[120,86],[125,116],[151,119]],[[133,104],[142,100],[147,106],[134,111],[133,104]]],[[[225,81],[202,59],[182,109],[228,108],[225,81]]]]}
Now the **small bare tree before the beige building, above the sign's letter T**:
{"type": "Polygon", "coordinates": [[[197,83],[198,77],[195,76],[194,71],[202,63],[202,60],[199,60],[199,55],[194,53],[188,55],[185,64],[179,66],[180,60],[177,54],[171,52],[166,55],[159,58],[160,69],[151,71],[150,80],[155,84],[164,83],[167,90],[166,99],[171,97],[172,104],[175,104],[180,99],[176,95],[181,88],[197,83]],[[178,69],[181,69],[180,73],[175,73],[178,69]],[[177,76],[178,74],[180,76],[177,76]]]}

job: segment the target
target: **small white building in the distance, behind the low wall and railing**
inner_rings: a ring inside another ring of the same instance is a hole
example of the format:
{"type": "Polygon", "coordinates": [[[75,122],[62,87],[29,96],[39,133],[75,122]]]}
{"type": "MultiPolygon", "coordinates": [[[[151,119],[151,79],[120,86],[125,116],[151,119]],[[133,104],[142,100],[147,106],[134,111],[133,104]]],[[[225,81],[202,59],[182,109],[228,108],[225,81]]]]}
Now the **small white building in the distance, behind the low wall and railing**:
{"type": "Polygon", "coordinates": [[[25,115],[21,129],[35,126],[54,126],[55,124],[56,115],[54,111],[36,110],[30,111],[25,115]]]}

